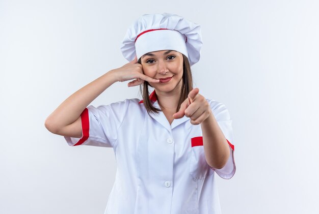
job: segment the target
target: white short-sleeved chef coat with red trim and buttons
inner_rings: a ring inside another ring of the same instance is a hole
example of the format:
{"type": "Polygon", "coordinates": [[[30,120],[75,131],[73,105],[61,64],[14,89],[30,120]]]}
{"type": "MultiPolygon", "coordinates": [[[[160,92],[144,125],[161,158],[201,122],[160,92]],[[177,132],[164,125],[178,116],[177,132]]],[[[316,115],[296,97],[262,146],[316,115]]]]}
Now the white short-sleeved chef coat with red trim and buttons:
{"type": "MultiPolygon", "coordinates": [[[[154,92],[150,98],[160,108],[154,92]]],[[[71,146],[113,147],[117,171],[104,214],[221,213],[215,172],[225,179],[235,173],[232,120],[224,104],[207,101],[229,143],[222,169],[206,163],[201,126],[189,117],[170,125],[163,112],[149,115],[139,99],[83,111],[82,138],[65,139],[71,146]]]]}

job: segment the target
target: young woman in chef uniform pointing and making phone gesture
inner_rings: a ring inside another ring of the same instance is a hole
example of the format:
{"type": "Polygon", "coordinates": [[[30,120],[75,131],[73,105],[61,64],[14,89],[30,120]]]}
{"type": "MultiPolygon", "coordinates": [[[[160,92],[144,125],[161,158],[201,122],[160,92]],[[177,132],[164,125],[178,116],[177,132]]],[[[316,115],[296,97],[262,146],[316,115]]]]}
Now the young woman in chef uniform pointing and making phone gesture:
{"type": "Polygon", "coordinates": [[[76,91],[46,119],[71,146],[113,147],[117,172],[105,213],[221,213],[215,172],[226,179],[235,173],[232,127],[225,105],[192,86],[201,45],[198,24],[143,15],[121,47],[130,62],[76,91]],[[127,80],[141,86],[143,100],[88,106],[127,80]]]}

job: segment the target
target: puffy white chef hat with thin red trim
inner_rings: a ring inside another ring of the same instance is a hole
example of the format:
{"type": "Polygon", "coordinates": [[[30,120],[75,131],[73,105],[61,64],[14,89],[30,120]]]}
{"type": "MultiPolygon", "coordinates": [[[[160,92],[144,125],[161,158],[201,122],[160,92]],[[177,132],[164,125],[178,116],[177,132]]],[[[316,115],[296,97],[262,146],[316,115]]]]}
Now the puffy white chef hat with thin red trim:
{"type": "Polygon", "coordinates": [[[145,14],[126,32],[121,45],[123,56],[131,61],[145,53],[175,50],[188,57],[190,65],[199,61],[202,38],[200,25],[181,16],[145,14]]]}

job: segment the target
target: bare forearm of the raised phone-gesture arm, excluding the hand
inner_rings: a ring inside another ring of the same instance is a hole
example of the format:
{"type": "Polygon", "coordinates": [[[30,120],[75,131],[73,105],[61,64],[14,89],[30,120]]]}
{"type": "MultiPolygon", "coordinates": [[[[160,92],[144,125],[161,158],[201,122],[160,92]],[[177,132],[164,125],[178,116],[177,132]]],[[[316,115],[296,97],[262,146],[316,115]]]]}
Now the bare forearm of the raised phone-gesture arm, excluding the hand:
{"type": "Polygon", "coordinates": [[[47,117],[46,126],[57,130],[72,124],[95,98],[116,81],[117,77],[110,71],[77,90],[47,117]]]}

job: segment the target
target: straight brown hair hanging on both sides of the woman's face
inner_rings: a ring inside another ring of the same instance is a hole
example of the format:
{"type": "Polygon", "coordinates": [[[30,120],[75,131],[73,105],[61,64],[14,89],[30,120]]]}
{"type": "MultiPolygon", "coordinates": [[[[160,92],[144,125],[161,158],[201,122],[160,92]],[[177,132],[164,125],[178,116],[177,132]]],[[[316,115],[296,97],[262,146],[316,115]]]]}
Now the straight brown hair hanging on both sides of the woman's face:
{"type": "MultiPolygon", "coordinates": [[[[189,62],[189,59],[184,54],[182,55],[183,55],[183,76],[182,76],[182,85],[180,90],[180,98],[178,101],[176,112],[179,110],[180,105],[182,104],[182,102],[184,102],[185,99],[187,99],[188,94],[193,89],[193,78],[192,78],[190,62],[189,62]]],[[[138,63],[141,64],[141,58],[138,60],[138,63]]],[[[147,81],[144,81],[144,83],[140,85],[140,90],[143,97],[144,106],[148,114],[159,113],[161,109],[155,108],[152,105],[151,100],[149,99],[149,91],[148,91],[149,85],[150,84],[147,81]]]]}

